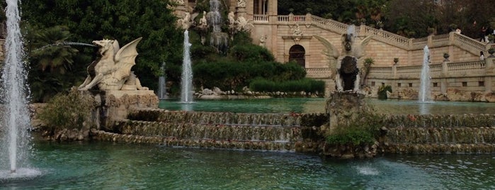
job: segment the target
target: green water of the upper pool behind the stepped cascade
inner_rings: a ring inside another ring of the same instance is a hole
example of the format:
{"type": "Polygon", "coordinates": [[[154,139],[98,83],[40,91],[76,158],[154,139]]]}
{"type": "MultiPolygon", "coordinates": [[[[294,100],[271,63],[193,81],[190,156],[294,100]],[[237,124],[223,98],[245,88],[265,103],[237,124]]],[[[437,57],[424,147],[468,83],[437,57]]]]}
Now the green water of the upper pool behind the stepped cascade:
{"type": "MultiPolygon", "coordinates": [[[[495,103],[435,101],[419,104],[414,100],[366,99],[378,113],[392,114],[495,114],[495,103]]],[[[181,104],[174,100],[162,100],[159,108],[183,111],[220,111],[236,113],[324,113],[325,99],[243,99],[198,100],[193,104],[181,104]]]]}

